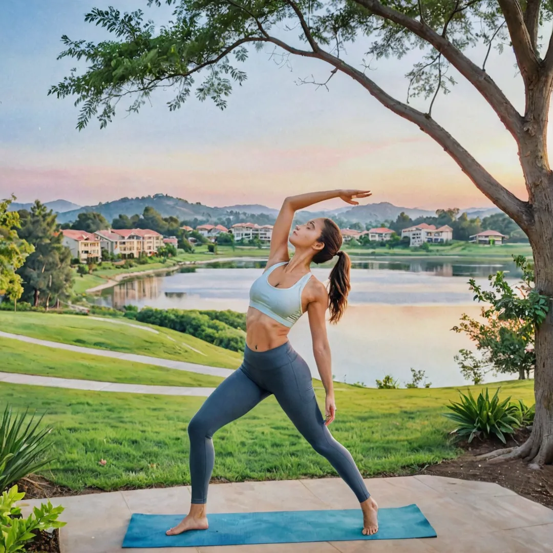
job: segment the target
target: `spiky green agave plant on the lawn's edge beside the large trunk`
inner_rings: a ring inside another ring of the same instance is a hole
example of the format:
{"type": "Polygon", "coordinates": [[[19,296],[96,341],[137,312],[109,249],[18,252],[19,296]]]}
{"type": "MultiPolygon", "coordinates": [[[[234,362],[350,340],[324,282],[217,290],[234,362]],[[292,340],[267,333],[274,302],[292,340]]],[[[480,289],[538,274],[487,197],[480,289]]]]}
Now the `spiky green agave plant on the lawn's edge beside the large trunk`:
{"type": "Polygon", "coordinates": [[[493,398],[489,399],[486,388],[486,394],[480,393],[475,400],[469,390],[468,396],[461,393],[460,402],[451,401],[447,408],[452,413],[446,413],[445,416],[457,422],[458,426],[452,434],[468,436],[468,443],[474,436],[482,434],[489,437],[494,434],[505,444],[505,434],[513,434],[520,422],[514,413],[517,406],[509,404],[511,398],[500,402],[498,394],[499,389],[495,391],[493,398]]]}

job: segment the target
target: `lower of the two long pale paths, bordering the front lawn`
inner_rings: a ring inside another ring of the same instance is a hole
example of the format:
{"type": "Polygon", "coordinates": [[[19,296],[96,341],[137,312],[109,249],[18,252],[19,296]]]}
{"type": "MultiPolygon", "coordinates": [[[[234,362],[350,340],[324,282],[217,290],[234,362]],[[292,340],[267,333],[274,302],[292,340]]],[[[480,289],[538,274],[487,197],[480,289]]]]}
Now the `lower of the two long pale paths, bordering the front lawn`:
{"type": "Polygon", "coordinates": [[[49,388],[70,388],[72,390],[92,390],[93,392],[127,392],[131,394],[195,395],[207,397],[215,388],[184,386],[153,386],[148,384],[123,384],[119,382],[98,382],[98,380],[78,380],[76,378],[42,377],[37,374],[0,372],[0,382],[28,384],[49,388]]]}

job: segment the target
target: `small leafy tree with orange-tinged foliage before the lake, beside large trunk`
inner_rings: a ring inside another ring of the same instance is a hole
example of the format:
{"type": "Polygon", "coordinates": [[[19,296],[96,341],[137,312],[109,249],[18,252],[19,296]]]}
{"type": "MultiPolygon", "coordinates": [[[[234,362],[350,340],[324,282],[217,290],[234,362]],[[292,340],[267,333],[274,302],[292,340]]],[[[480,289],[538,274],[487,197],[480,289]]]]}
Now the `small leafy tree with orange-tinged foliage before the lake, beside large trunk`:
{"type": "Polygon", "coordinates": [[[519,286],[513,290],[503,271],[489,276],[491,290],[483,290],[470,279],[474,299],[487,307],[481,309],[481,320],[463,314],[461,324],[451,329],[465,332],[481,354],[476,357],[461,349],[455,356],[463,376],[475,384],[483,382],[488,372],[518,373],[519,379],[529,378],[536,367],[535,328],[547,314],[547,298],[535,290],[531,264],[521,255],[514,260],[523,272],[519,286]]]}

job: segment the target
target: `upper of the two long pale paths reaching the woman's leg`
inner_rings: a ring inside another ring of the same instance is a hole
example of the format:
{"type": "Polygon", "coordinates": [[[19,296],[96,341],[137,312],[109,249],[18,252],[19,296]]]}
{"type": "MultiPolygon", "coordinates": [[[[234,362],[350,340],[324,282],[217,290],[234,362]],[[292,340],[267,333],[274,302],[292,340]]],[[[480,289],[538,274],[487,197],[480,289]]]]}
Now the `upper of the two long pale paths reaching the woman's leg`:
{"type": "MultiPolygon", "coordinates": [[[[61,342],[50,342],[49,340],[39,340],[38,338],[30,338],[19,334],[10,334],[9,332],[0,331],[0,337],[12,338],[39,346],[53,347],[56,349],[66,349],[67,351],[75,351],[77,353],[87,353],[100,357],[115,357],[124,359],[124,361],[134,361],[135,363],[145,363],[148,365],[157,365],[158,367],[167,367],[169,369],[177,369],[178,371],[189,371],[191,373],[210,374],[215,377],[226,378],[234,371],[232,369],[224,369],[222,367],[208,367],[197,363],[186,363],[185,361],[173,361],[172,359],[162,359],[160,357],[149,357],[147,355],[137,355],[134,353],[122,353],[119,351],[111,351],[109,349],[96,349],[90,347],[73,346],[61,342]]],[[[85,388],[87,389],[87,388],[85,388]]]]}

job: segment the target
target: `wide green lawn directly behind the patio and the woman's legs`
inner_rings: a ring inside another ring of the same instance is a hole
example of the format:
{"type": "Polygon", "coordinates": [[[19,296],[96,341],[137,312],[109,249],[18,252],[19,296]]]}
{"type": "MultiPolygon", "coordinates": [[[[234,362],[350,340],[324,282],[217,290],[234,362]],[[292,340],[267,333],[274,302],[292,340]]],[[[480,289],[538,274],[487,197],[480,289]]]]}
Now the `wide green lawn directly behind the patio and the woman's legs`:
{"type": "MultiPolygon", "coordinates": [[[[533,403],[532,381],[501,385],[502,396],[533,403]]],[[[481,387],[471,388],[478,393],[481,387]]],[[[316,393],[322,405],[323,392],[316,393]]],[[[447,440],[451,422],[442,416],[448,400],[457,398],[455,388],[376,390],[340,384],[338,418],[331,431],[364,476],[409,473],[415,466],[457,455],[447,440]]],[[[6,383],[0,387],[0,405],[46,411],[44,421],[54,427],[56,461],[41,474],[75,490],[190,483],[186,427],[202,401],[6,383]],[[101,458],[106,466],[98,464],[101,458]]],[[[336,476],[272,397],[223,427],[213,441],[214,477],[237,482],[336,476]]]]}

